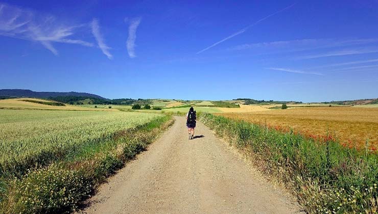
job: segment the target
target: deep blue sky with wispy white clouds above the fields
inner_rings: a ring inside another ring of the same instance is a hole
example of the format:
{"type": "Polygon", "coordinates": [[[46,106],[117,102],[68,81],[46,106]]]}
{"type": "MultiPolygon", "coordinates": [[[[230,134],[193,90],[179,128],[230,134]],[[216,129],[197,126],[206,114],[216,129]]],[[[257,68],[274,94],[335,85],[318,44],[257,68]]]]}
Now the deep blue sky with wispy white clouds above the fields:
{"type": "Polygon", "coordinates": [[[3,1],[0,88],[376,98],[376,11],[377,1],[3,1]]]}

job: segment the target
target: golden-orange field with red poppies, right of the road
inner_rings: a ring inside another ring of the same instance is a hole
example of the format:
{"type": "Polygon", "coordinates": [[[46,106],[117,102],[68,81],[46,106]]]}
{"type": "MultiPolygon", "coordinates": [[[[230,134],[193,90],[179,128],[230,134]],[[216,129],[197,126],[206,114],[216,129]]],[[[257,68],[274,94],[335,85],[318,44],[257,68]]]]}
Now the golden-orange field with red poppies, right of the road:
{"type": "Polygon", "coordinates": [[[376,108],[295,108],[218,115],[266,124],[280,130],[292,128],[313,138],[329,133],[347,146],[362,147],[367,139],[369,146],[378,146],[378,109],[376,108]]]}

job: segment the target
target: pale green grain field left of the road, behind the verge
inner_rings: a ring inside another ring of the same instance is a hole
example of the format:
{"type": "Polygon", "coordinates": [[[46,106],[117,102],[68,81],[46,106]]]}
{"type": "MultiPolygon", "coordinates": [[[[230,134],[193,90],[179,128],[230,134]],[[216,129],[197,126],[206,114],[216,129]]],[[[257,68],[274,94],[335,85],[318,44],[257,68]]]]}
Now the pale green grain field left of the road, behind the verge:
{"type": "Polygon", "coordinates": [[[119,111],[0,110],[0,173],[23,173],[162,117],[119,111]]]}

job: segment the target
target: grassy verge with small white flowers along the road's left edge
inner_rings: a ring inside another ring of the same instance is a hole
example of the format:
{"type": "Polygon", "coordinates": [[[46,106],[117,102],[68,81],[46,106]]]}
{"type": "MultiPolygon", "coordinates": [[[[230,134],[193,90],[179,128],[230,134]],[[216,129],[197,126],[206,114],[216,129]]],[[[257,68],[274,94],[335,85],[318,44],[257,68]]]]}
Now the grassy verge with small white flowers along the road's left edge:
{"type": "Polygon", "coordinates": [[[125,130],[113,140],[81,147],[19,179],[0,180],[0,213],[66,213],[77,209],[101,182],[172,123],[167,115],[125,130]]]}

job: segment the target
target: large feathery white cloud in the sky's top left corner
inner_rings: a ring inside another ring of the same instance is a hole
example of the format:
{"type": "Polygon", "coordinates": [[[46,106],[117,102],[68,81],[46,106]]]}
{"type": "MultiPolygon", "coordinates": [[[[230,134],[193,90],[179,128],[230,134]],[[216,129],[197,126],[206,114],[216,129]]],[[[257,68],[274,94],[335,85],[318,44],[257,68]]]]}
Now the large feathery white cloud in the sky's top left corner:
{"type": "Polygon", "coordinates": [[[92,43],[72,38],[83,25],[67,25],[54,16],[37,15],[31,10],[0,3],[0,35],[41,43],[58,55],[53,43],[93,46],[92,43]]]}

